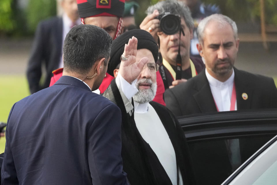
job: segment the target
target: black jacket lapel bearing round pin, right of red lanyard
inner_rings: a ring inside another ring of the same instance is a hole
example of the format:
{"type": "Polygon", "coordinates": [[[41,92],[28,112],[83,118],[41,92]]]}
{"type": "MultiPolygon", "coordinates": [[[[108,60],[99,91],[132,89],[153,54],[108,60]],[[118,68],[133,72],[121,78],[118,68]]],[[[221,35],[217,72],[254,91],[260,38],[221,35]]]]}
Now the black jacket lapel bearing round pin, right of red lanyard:
{"type": "Polygon", "coordinates": [[[237,95],[237,110],[244,110],[251,108],[251,101],[253,97],[253,87],[247,83],[247,76],[243,75],[234,67],[235,72],[235,86],[237,95]],[[242,97],[244,95],[244,98],[242,97]],[[247,95],[247,99],[245,96],[247,95]]]}

